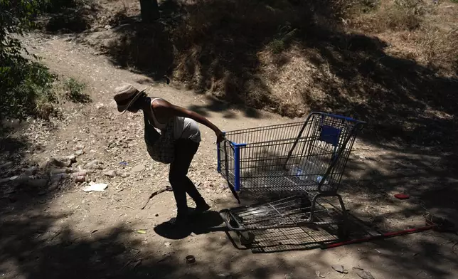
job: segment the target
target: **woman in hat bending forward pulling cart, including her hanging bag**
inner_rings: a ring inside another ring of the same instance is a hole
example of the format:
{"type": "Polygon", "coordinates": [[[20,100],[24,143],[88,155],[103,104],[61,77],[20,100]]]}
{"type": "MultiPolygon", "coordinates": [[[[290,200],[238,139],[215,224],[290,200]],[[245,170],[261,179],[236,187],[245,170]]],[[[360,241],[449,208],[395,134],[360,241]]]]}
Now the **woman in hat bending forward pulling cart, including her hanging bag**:
{"type": "Polygon", "coordinates": [[[186,193],[196,203],[193,214],[210,209],[191,179],[189,166],[201,142],[199,122],[215,132],[217,142],[223,132],[206,117],[183,107],[172,105],[162,98],[150,98],[144,90],[125,84],[115,89],[115,101],[120,114],[142,110],[145,124],[145,143],[150,156],[157,162],[170,164],[169,181],[174,191],[177,214],[171,223],[182,225],[189,216],[186,193]],[[157,132],[160,130],[161,132],[157,132]]]}

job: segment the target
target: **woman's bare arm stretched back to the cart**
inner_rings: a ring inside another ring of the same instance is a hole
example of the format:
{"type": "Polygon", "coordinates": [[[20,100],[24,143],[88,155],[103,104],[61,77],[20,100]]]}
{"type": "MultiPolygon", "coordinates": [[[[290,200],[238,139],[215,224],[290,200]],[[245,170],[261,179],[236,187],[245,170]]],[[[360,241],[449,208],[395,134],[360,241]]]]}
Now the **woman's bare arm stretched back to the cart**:
{"type": "Polygon", "coordinates": [[[202,125],[206,125],[209,127],[213,132],[215,132],[217,142],[221,142],[223,140],[223,132],[216,127],[210,120],[202,115],[199,115],[197,112],[193,112],[191,110],[187,110],[184,107],[179,107],[177,105],[172,105],[170,102],[166,100],[156,100],[153,104],[154,111],[157,112],[159,115],[164,115],[164,117],[188,117],[196,122],[201,123],[202,125]]]}

